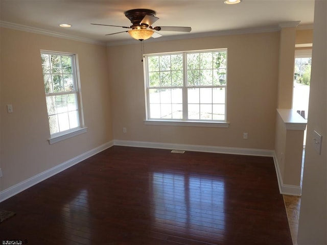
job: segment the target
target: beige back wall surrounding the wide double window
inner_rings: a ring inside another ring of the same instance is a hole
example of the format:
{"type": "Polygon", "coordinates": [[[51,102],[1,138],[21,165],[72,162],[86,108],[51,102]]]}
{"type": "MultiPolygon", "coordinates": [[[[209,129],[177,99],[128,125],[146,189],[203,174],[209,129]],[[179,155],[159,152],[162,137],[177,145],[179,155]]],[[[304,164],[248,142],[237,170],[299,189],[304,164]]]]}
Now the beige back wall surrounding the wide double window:
{"type": "Polygon", "coordinates": [[[274,149],[279,32],[145,41],[145,53],[228,48],[229,128],[144,125],[141,43],[108,47],[114,139],[274,149]],[[127,133],[123,133],[123,127],[127,133]],[[248,132],[248,139],[243,139],[248,132]]]}

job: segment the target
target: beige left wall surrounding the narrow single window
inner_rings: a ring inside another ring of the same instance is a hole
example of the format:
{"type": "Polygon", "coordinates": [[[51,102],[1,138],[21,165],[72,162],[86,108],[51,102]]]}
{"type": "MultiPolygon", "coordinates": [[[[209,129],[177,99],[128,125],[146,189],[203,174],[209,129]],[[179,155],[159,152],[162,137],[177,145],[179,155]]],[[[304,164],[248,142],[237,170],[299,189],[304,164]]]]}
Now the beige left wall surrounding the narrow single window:
{"type": "Polygon", "coordinates": [[[1,190],[112,140],[106,47],[1,30],[1,190]],[[78,54],[87,133],[50,145],[40,50],[78,54]],[[13,113],[7,113],[7,104],[13,113]]]}

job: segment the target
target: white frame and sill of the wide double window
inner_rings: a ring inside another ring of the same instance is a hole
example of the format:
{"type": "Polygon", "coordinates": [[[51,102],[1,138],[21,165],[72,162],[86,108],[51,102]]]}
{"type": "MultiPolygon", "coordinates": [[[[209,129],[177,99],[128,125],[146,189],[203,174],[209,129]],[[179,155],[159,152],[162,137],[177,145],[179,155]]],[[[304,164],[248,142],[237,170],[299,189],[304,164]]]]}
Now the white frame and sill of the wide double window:
{"type": "Polygon", "coordinates": [[[185,51],[185,52],[169,52],[169,53],[157,53],[157,54],[147,54],[144,55],[144,77],[145,77],[145,102],[146,102],[146,119],[144,120],[145,125],[167,125],[167,126],[193,126],[193,127],[219,127],[219,128],[228,128],[229,122],[227,122],[227,48],[219,48],[214,50],[200,50],[200,51],[185,51]],[[217,85],[217,86],[188,86],[187,85],[187,54],[194,53],[208,53],[208,52],[226,52],[226,84],[217,85]],[[171,118],[150,118],[150,102],[149,102],[149,89],[159,88],[159,87],[150,87],[149,83],[149,68],[148,68],[148,57],[158,56],[158,55],[174,55],[182,54],[183,55],[183,86],[182,87],[165,87],[165,88],[181,88],[182,97],[183,97],[183,118],[182,119],[171,119],[171,118]],[[188,119],[188,89],[189,88],[219,88],[223,87],[225,89],[225,119],[224,120],[204,120],[204,119],[188,119]]]}

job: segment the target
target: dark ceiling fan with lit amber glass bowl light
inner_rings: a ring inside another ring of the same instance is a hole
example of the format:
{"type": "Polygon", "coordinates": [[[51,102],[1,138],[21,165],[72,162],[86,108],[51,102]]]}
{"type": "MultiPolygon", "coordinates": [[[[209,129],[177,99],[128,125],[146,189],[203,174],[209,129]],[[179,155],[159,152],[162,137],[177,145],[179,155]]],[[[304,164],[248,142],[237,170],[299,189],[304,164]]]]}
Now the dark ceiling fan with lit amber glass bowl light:
{"type": "MultiPolygon", "coordinates": [[[[131,21],[132,25],[130,27],[123,26],[112,26],[111,24],[96,24],[98,26],[108,26],[108,27],[121,27],[131,29],[128,32],[132,38],[143,41],[150,37],[157,38],[162,35],[157,33],[158,31],[172,31],[172,32],[191,32],[191,27],[152,27],[152,24],[159,18],[156,17],[156,12],[151,9],[131,9],[126,11],[125,16],[131,21]]],[[[95,23],[91,23],[95,24],[95,23]]],[[[123,32],[115,32],[106,34],[114,35],[123,32]]]]}

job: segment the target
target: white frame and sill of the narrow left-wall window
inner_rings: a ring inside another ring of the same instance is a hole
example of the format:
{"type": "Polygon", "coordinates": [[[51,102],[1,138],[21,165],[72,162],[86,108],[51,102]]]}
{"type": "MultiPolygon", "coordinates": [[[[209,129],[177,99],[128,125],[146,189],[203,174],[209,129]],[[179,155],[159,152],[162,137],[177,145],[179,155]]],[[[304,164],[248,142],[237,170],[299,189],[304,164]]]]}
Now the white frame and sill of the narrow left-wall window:
{"type": "MultiPolygon", "coordinates": [[[[74,83],[74,90],[73,91],[63,91],[63,92],[51,92],[46,93],[45,91],[45,99],[49,96],[54,95],[66,95],[66,94],[75,94],[76,95],[76,107],[77,107],[77,115],[78,115],[78,126],[64,130],[59,131],[57,133],[50,133],[50,138],[48,139],[50,144],[83,134],[87,132],[87,128],[84,126],[84,117],[83,117],[83,110],[82,110],[82,95],[81,95],[81,84],[80,84],[80,77],[79,77],[79,66],[78,66],[78,57],[77,54],[72,53],[64,53],[64,52],[53,52],[53,51],[45,51],[41,50],[40,54],[45,55],[58,55],[58,56],[70,56],[72,59],[72,73],[73,73],[73,83],[74,83]]],[[[43,74],[43,70],[42,70],[43,74]]],[[[44,75],[44,74],[43,74],[44,75]]],[[[43,83],[44,83],[44,77],[43,77],[43,83]]],[[[48,114],[48,113],[47,113],[48,114]]],[[[49,114],[48,114],[49,118],[49,114]]],[[[49,122],[49,121],[48,121],[49,122]]],[[[50,124],[49,124],[49,130],[50,130],[50,124]]]]}

